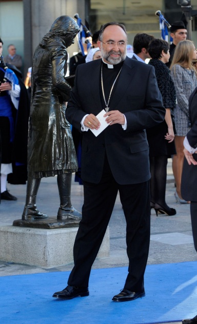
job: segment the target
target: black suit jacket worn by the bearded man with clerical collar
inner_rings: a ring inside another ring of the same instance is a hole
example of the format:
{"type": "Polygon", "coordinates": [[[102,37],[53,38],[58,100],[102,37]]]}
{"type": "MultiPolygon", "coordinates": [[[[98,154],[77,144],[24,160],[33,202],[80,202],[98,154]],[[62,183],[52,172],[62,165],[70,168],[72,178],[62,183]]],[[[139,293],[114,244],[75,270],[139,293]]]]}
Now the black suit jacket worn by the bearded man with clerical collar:
{"type": "MultiPolygon", "coordinates": [[[[104,109],[100,98],[101,63],[102,60],[95,60],[76,69],[66,118],[78,131],[86,114],[96,116],[104,109]]],[[[107,154],[117,183],[148,181],[149,148],[145,129],[159,124],[165,117],[152,66],[126,57],[109,107],[125,114],[127,129],[124,131],[122,125],[114,124],[97,137],[90,130],[83,132],[82,179],[99,183],[107,154]]]]}

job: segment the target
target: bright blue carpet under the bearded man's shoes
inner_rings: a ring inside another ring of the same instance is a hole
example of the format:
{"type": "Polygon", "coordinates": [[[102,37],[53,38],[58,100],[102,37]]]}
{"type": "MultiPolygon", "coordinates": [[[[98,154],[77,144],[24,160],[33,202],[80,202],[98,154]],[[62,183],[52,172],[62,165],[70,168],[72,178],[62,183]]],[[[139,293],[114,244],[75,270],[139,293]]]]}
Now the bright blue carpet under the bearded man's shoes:
{"type": "Polygon", "coordinates": [[[197,314],[197,262],[148,265],[146,297],[111,298],[124,286],[127,268],[94,269],[90,296],[52,298],[65,288],[69,272],[0,277],[0,323],[142,324],[181,321],[197,314]]]}

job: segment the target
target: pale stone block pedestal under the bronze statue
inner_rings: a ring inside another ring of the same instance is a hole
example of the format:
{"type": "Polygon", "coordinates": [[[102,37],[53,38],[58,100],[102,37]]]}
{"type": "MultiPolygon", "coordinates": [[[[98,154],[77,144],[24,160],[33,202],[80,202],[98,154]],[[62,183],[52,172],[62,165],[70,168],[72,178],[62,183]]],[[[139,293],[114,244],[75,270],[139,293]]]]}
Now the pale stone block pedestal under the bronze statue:
{"type": "MultiPolygon", "coordinates": [[[[78,227],[0,227],[0,260],[51,268],[73,262],[78,227]]],[[[91,244],[91,242],[90,242],[91,244]]],[[[109,256],[109,227],[97,258],[109,256]]]]}

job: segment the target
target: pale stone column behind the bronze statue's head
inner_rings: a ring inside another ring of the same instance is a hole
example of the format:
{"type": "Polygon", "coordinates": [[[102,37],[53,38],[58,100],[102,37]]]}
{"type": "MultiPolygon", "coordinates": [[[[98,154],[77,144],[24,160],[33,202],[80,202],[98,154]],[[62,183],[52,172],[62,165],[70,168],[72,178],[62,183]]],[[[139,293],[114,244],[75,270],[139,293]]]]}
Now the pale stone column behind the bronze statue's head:
{"type": "MultiPolygon", "coordinates": [[[[61,15],[78,13],[85,23],[85,0],[24,0],[24,65],[25,73],[32,64],[36,46],[61,15]]],[[[69,55],[78,51],[77,41],[68,48],[69,55]]]]}

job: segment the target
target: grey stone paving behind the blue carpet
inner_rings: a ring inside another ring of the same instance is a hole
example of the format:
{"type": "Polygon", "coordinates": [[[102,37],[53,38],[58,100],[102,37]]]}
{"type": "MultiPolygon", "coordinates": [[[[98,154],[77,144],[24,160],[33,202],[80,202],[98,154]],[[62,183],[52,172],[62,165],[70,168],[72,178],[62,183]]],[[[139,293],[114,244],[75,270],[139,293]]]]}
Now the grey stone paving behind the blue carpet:
{"type": "MultiPolygon", "coordinates": [[[[16,202],[2,201],[0,205],[0,226],[12,225],[16,219],[21,219],[25,204],[26,186],[8,185],[10,193],[17,196],[16,202]]],[[[175,208],[174,216],[158,215],[151,212],[151,241],[148,264],[177,263],[197,261],[197,254],[193,247],[189,205],[177,204],[174,198],[174,180],[171,169],[171,159],[168,161],[168,176],[166,188],[166,202],[175,208]]],[[[56,178],[43,178],[37,196],[38,209],[54,216],[59,204],[56,178]]],[[[72,184],[72,204],[81,210],[83,204],[83,186],[72,184]]],[[[96,260],[93,268],[107,268],[127,266],[125,243],[125,219],[119,196],[109,223],[110,227],[110,257],[96,260]]],[[[61,244],[61,243],[60,243],[61,244]]],[[[1,247],[2,248],[2,247],[1,247]]],[[[45,269],[35,266],[14,264],[0,261],[0,276],[32,274],[53,271],[70,271],[73,264],[45,269]]]]}

